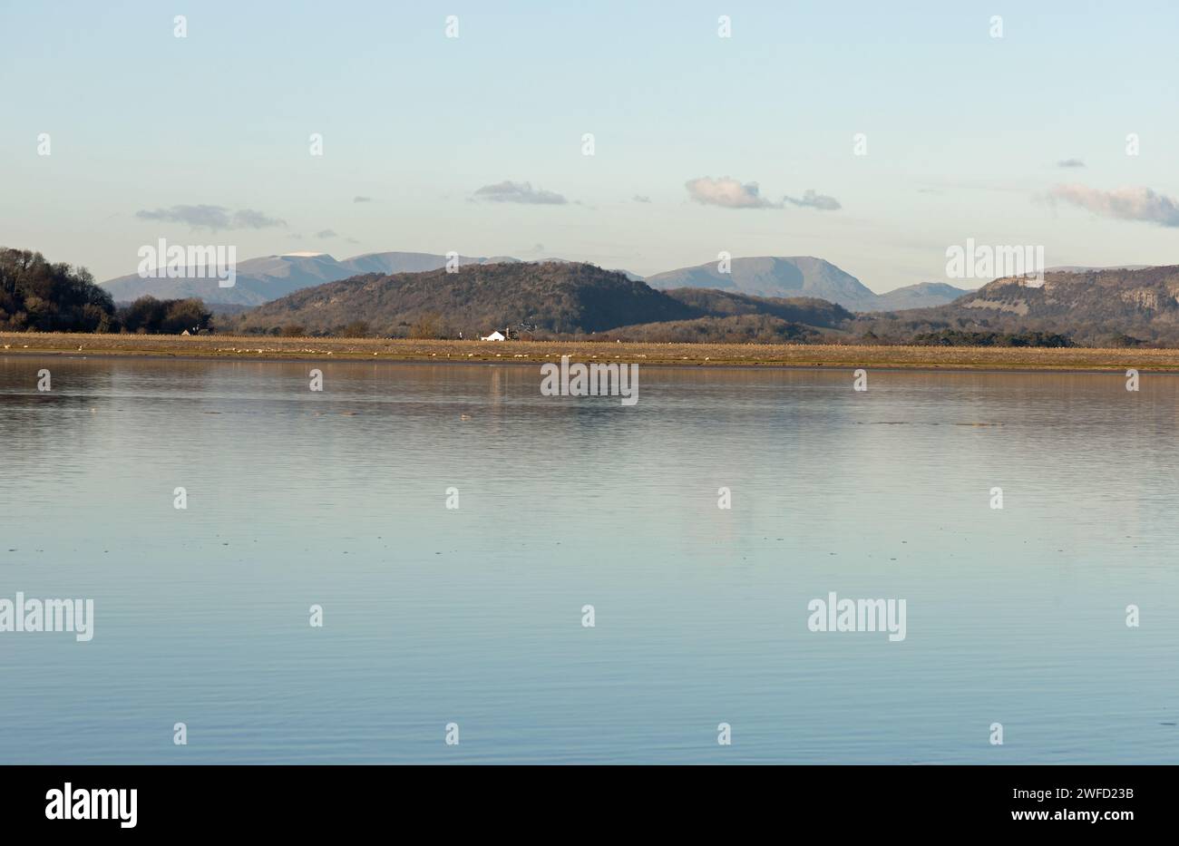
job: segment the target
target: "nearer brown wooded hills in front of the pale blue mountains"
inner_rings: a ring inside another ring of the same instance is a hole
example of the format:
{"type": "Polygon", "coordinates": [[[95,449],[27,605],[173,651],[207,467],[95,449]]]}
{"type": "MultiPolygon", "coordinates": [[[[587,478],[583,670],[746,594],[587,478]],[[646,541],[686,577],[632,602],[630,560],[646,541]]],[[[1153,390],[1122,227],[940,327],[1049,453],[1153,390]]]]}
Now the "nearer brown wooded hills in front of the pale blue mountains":
{"type": "MultiPolygon", "coordinates": [[[[689,280],[704,278],[687,275],[689,280]]],[[[890,296],[920,296],[922,286],[916,287],[890,296]]],[[[957,290],[947,285],[950,291],[938,291],[937,283],[924,287],[943,297],[957,290]]],[[[816,287],[799,283],[798,290],[816,287]]],[[[363,319],[373,333],[420,337],[472,337],[511,328],[523,337],[608,332],[631,341],[1005,343],[995,339],[1040,333],[1094,346],[1177,343],[1179,267],[1048,271],[1042,286],[996,279],[937,306],[854,315],[816,297],[691,285],[656,290],[591,264],[473,263],[456,273],[371,273],[332,282],[237,319],[237,329],[248,332],[294,326],[328,333],[363,319]]]]}

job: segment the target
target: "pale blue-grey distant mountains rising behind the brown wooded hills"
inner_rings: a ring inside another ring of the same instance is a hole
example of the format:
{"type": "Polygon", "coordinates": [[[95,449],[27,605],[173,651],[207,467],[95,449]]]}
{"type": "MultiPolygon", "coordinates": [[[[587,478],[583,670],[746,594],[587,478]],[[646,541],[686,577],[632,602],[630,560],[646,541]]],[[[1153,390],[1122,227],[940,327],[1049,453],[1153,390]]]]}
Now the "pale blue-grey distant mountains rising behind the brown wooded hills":
{"type": "MultiPolygon", "coordinates": [[[[545,259],[545,263],[564,260],[545,259]]],[[[444,267],[446,262],[446,256],[424,252],[374,252],[343,260],[327,253],[289,253],[239,262],[232,287],[219,287],[216,279],[144,279],[138,275],[120,276],[103,286],[116,302],[131,302],[150,293],[159,299],[200,297],[215,306],[255,306],[327,282],[363,273],[428,272],[444,267]]],[[[459,263],[460,266],[519,264],[521,259],[460,256],[459,263]]],[[[632,282],[644,279],[630,271],[619,272],[632,282]]],[[[811,257],[735,258],[729,273],[719,272],[712,263],[657,273],[645,282],[656,290],[706,287],[756,297],[817,297],[852,311],[928,308],[953,302],[967,292],[944,283],[920,283],[878,295],[834,264],[811,257]]]]}

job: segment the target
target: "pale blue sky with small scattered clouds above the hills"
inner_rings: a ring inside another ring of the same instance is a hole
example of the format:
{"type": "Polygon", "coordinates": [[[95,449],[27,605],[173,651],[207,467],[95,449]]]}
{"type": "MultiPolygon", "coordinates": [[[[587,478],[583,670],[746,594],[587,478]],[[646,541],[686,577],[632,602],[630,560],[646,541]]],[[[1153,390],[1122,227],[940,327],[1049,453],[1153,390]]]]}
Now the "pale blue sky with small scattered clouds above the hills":
{"type": "Polygon", "coordinates": [[[877,291],[944,279],[967,238],[1179,263],[1173,2],[0,0],[0,244],[99,279],[160,237],[639,273],[810,255],[877,291]],[[686,187],[726,177],[766,205],[686,187]],[[505,181],[566,201],[476,194],[505,181]],[[782,201],[808,190],[839,207],[782,201]]]}

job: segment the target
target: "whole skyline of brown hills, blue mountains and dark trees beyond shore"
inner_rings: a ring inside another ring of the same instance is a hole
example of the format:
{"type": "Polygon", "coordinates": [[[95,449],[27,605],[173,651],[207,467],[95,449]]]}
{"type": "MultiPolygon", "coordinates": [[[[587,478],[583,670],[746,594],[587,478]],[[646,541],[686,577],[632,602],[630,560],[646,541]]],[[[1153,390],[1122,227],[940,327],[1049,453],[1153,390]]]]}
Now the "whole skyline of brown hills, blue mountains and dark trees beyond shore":
{"type": "MultiPolygon", "coordinates": [[[[112,290],[138,296],[132,284],[158,283],[125,277],[100,291],[85,273],[74,278],[67,265],[32,251],[0,250],[0,325],[18,330],[127,330],[141,309],[117,312],[112,290]]],[[[1050,269],[1041,280],[1006,277],[977,291],[922,283],[875,295],[811,257],[735,259],[731,273],[685,267],[652,277],[653,285],[561,259],[462,257],[456,272],[444,264],[443,256],[406,252],[250,259],[238,265],[238,296],[288,292],[253,306],[220,303],[215,325],[278,335],[474,337],[507,329],[520,337],[650,342],[1179,346],[1179,265],[1050,269]],[[399,267],[408,270],[387,272],[399,267]],[[336,275],[347,278],[330,280],[336,275]],[[779,291],[810,296],[764,296],[779,291]],[[921,305],[930,300],[943,302],[921,305]]],[[[216,280],[159,284],[174,287],[146,292],[200,295],[187,286],[216,280]]]]}

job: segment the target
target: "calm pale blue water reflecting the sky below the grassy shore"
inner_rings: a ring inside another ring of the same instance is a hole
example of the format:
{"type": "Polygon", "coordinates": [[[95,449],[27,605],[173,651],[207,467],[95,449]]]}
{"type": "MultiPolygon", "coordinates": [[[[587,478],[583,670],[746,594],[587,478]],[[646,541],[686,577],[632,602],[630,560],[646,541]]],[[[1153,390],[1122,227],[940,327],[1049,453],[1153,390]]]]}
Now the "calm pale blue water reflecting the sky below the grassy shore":
{"type": "Polygon", "coordinates": [[[1179,761],[1179,378],[869,379],[0,357],[0,761],[1179,761]]]}

